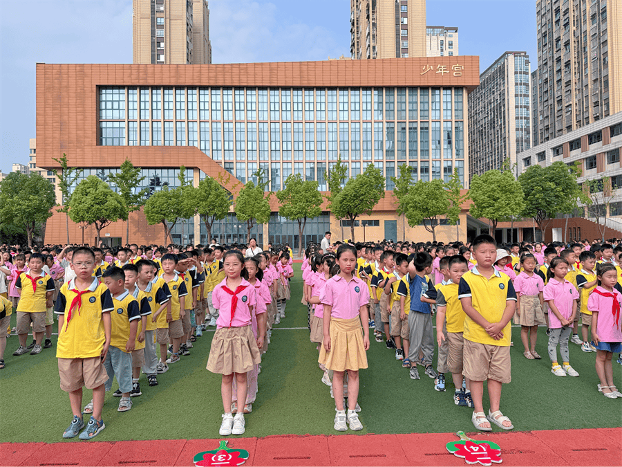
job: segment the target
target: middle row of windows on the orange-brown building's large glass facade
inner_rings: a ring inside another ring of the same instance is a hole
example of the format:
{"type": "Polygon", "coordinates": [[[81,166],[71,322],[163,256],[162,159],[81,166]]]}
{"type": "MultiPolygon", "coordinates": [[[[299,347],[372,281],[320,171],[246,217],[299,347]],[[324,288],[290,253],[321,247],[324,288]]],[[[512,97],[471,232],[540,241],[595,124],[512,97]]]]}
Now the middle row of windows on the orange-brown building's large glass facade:
{"type": "Polygon", "coordinates": [[[100,122],[102,146],[196,146],[215,161],[464,158],[464,122],[100,122]],[[164,125],[162,125],[162,123],[164,125]]]}

